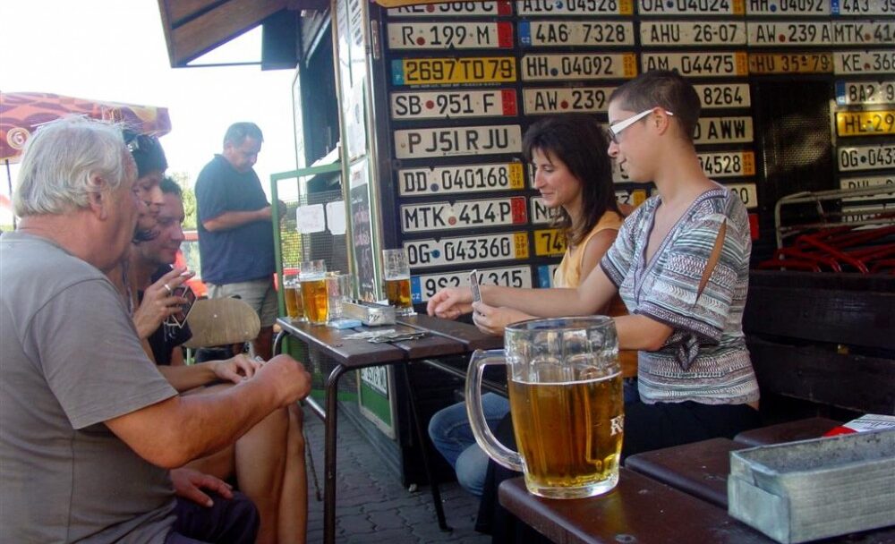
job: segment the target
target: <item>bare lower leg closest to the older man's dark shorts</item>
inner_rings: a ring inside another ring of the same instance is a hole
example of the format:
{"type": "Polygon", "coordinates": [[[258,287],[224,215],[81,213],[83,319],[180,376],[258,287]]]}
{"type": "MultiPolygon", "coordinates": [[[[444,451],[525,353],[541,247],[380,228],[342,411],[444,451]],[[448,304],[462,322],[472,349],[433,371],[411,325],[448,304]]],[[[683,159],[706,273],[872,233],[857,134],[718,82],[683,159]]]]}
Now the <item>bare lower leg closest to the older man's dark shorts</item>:
{"type": "Polygon", "coordinates": [[[258,507],[259,544],[277,542],[288,427],[288,413],[277,410],[236,441],[236,480],[239,489],[258,507]]]}

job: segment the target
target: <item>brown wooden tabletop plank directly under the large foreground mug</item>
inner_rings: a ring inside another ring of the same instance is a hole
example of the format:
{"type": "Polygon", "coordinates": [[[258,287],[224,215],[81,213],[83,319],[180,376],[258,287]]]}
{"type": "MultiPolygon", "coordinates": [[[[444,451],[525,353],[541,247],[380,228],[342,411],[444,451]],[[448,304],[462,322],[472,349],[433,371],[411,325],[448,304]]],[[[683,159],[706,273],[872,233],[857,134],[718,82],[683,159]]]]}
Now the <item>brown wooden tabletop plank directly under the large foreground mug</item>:
{"type": "Polygon", "coordinates": [[[535,497],[522,478],[501,483],[499,496],[524,523],[564,544],[773,542],[716,506],[624,468],[616,489],[600,497],[535,497]]]}

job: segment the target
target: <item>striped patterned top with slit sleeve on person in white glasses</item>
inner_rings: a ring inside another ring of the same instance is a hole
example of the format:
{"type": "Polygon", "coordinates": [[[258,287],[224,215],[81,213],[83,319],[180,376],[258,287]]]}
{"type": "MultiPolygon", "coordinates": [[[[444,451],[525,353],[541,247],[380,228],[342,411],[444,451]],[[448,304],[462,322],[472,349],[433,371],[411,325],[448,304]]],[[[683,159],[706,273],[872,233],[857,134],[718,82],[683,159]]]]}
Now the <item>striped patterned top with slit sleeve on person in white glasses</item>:
{"type": "Polygon", "coordinates": [[[673,332],[656,352],[641,351],[637,378],[644,403],[745,404],[758,400],[742,318],[749,287],[752,240],[746,208],[721,186],[703,192],[646,262],[646,245],[661,197],[626,219],[601,260],[628,311],[665,323],[673,332]],[[724,244],[697,298],[720,226],[724,244]]]}

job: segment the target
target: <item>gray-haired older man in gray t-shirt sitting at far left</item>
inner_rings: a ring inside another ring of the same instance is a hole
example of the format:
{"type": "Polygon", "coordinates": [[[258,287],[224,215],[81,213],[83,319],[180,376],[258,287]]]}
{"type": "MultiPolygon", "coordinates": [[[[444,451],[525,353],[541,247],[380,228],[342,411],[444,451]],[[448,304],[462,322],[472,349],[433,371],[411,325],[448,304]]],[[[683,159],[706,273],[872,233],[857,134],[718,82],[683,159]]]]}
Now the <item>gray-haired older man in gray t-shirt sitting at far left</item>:
{"type": "Polygon", "coordinates": [[[143,206],[135,175],[120,129],[84,119],[41,128],[22,158],[21,223],[0,238],[0,540],[251,540],[227,519],[232,501],[175,499],[168,469],[309,391],[283,355],[207,395],[177,395],[158,373],[105,276],[143,206]]]}

